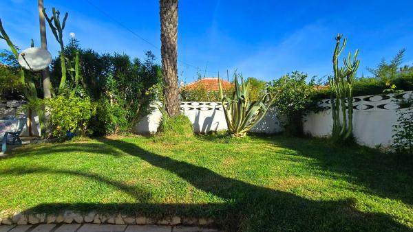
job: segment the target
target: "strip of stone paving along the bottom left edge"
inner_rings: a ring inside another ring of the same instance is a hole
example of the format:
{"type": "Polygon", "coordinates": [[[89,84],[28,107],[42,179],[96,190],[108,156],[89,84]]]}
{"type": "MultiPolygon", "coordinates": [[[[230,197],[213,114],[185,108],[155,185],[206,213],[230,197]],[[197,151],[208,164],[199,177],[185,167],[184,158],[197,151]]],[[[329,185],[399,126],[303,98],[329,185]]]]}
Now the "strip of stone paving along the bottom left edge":
{"type": "Polygon", "coordinates": [[[217,229],[135,224],[34,224],[1,225],[0,232],[218,232],[217,229]]]}

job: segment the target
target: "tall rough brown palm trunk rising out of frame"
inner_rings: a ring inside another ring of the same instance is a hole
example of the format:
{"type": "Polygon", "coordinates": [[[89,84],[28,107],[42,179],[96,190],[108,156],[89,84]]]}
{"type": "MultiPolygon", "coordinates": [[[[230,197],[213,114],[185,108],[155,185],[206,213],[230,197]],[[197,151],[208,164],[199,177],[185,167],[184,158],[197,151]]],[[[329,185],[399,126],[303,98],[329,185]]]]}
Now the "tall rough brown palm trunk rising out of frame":
{"type": "Polygon", "coordinates": [[[164,77],[165,109],[169,116],[179,115],[178,97],[178,0],[160,0],[160,54],[164,77]]]}

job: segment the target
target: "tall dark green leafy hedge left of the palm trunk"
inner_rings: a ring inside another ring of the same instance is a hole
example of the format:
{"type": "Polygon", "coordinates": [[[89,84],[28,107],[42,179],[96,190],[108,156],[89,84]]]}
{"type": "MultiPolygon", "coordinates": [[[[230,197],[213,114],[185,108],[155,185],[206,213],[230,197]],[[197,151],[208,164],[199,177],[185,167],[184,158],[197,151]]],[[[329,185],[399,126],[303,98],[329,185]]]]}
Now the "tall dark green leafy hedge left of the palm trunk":
{"type": "MultiPolygon", "coordinates": [[[[132,126],[151,111],[150,103],[158,97],[151,89],[162,83],[160,65],[155,63],[151,51],[145,53],[143,60],[131,59],[126,54],[98,54],[92,49],[82,49],[76,39],[64,51],[69,60],[79,54],[81,84],[99,112],[90,120],[94,135],[131,132],[132,126]]],[[[59,58],[55,58],[52,81],[59,80],[60,67],[59,58]]]]}

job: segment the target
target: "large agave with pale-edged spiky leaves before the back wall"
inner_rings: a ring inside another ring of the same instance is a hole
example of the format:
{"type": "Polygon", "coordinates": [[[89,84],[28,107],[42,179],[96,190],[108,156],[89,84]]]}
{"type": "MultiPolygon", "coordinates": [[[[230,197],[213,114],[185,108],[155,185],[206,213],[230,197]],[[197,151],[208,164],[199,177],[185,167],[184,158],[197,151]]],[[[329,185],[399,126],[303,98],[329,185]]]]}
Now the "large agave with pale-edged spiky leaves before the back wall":
{"type": "Polygon", "coordinates": [[[222,107],[224,108],[226,124],[231,137],[245,137],[246,132],[250,130],[258,121],[260,121],[268,108],[270,108],[274,96],[264,93],[260,100],[250,102],[248,97],[249,84],[244,82],[240,75],[241,84],[238,82],[238,75],[234,73],[234,89],[232,98],[224,97],[222,93],[222,84],[220,74],[218,73],[218,83],[220,86],[220,96],[222,107]]]}

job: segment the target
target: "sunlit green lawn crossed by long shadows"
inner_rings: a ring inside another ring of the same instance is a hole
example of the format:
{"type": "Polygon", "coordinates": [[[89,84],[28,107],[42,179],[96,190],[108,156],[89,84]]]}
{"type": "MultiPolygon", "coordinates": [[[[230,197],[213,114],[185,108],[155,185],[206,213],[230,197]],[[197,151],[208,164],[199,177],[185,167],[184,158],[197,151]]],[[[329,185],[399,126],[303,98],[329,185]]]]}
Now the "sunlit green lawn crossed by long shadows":
{"type": "Polygon", "coordinates": [[[412,158],[322,139],[87,139],[0,160],[0,217],[105,211],[214,218],[242,231],[412,231],[412,158]]]}

